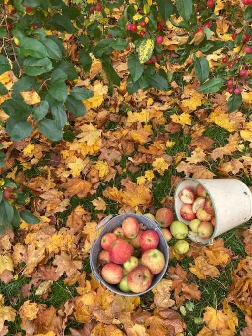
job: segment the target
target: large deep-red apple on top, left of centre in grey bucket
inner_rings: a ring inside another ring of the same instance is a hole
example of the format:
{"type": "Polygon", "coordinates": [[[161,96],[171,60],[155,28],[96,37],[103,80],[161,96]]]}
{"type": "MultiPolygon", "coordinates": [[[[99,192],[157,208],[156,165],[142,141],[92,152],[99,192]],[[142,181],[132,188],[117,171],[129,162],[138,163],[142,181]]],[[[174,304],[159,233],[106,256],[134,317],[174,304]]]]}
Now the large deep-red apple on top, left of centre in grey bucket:
{"type": "Polygon", "coordinates": [[[118,239],[110,247],[110,260],[115,264],[124,264],[129,260],[133,252],[134,248],[132,245],[123,239],[118,239]]]}

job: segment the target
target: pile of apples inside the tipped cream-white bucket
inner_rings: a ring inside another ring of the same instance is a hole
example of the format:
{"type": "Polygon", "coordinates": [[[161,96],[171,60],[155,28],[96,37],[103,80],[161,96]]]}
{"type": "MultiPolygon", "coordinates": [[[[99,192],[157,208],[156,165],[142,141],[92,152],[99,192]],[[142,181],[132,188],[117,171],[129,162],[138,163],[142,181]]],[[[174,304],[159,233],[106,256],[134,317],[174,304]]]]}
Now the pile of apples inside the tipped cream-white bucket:
{"type": "Polygon", "coordinates": [[[197,233],[201,239],[209,239],[214,232],[215,211],[207,191],[198,184],[196,192],[185,188],[180,191],[179,198],[184,203],[180,215],[189,221],[191,231],[197,233]]]}

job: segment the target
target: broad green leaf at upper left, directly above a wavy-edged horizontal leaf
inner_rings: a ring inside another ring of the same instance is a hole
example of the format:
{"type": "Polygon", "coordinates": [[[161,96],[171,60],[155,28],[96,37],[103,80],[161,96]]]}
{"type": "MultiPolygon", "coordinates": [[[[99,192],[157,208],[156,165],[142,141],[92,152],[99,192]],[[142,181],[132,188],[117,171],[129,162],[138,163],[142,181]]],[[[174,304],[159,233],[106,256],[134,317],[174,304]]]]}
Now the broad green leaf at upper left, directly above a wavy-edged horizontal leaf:
{"type": "Polygon", "coordinates": [[[35,58],[47,57],[48,52],[46,47],[31,37],[24,37],[19,41],[20,53],[23,56],[32,56],[35,58]]]}

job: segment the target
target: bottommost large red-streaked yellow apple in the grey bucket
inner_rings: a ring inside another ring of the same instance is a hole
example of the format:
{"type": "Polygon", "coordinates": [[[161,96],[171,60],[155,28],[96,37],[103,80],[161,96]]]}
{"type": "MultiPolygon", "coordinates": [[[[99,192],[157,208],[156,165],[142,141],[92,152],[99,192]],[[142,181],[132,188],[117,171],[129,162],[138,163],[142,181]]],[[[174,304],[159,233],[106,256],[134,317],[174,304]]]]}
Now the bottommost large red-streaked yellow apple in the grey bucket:
{"type": "Polygon", "coordinates": [[[127,275],[129,289],[134,293],[146,291],[152,283],[152,275],[147,267],[138,266],[127,275]]]}

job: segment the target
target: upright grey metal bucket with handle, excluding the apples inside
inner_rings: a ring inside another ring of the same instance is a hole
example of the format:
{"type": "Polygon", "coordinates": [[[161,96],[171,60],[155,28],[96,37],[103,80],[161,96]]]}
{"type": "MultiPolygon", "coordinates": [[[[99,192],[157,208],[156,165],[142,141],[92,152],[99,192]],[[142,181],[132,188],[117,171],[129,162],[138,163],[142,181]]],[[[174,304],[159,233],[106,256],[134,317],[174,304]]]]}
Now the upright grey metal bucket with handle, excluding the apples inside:
{"type": "Polygon", "coordinates": [[[120,214],[120,215],[115,215],[115,217],[113,217],[113,215],[109,215],[108,217],[104,218],[99,223],[99,225],[97,225],[97,230],[102,226],[103,226],[103,229],[100,235],[98,236],[98,238],[95,239],[95,241],[93,242],[92,247],[91,247],[91,252],[90,252],[90,266],[92,269],[92,273],[95,276],[95,279],[98,282],[101,282],[105,287],[107,287],[112,292],[119,294],[119,295],[123,295],[123,296],[136,296],[136,295],[142,295],[144,293],[149,292],[153,287],[155,287],[158,284],[158,282],[165,275],[165,272],[168,266],[168,260],[169,260],[169,246],[164,238],[164,235],[158,223],[142,214],[120,214]],[[141,292],[141,293],[132,293],[132,292],[125,293],[121,291],[116,285],[111,285],[107,283],[106,281],[104,281],[97,270],[97,257],[100,251],[102,250],[101,245],[100,245],[101,237],[105,233],[111,232],[115,227],[121,226],[122,221],[126,217],[129,217],[129,216],[135,217],[138,220],[138,222],[145,225],[147,229],[154,230],[158,233],[158,236],[159,236],[158,249],[163,253],[164,258],[165,258],[165,266],[162,272],[157,275],[154,275],[151,286],[146,291],[141,292]]]}

